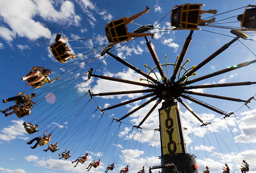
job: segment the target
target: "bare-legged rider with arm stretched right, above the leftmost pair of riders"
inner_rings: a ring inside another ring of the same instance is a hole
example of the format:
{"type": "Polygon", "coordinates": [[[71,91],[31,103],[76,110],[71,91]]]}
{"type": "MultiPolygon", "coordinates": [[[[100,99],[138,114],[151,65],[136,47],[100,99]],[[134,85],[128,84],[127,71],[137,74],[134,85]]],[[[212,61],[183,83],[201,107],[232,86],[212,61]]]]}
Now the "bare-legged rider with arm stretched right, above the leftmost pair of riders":
{"type": "Polygon", "coordinates": [[[30,77],[37,76],[37,78],[34,79],[32,82],[26,83],[27,86],[31,86],[31,85],[33,85],[33,84],[35,84],[35,83],[37,83],[37,82],[41,82],[41,81],[44,79],[44,77],[46,78],[46,80],[47,80],[48,83],[52,83],[52,82],[54,82],[55,80],[61,79],[60,77],[57,77],[57,78],[51,80],[51,79],[48,77],[48,75],[50,75],[50,74],[52,73],[52,70],[44,69],[44,67],[32,67],[32,69],[35,69],[35,68],[37,68],[37,70],[33,71],[33,72],[32,72],[31,74],[29,74],[28,76],[21,77],[21,79],[22,79],[23,81],[25,81],[25,80],[27,80],[27,79],[30,78],[30,77]],[[42,75],[41,75],[40,73],[41,73],[42,75]]]}

